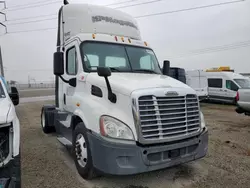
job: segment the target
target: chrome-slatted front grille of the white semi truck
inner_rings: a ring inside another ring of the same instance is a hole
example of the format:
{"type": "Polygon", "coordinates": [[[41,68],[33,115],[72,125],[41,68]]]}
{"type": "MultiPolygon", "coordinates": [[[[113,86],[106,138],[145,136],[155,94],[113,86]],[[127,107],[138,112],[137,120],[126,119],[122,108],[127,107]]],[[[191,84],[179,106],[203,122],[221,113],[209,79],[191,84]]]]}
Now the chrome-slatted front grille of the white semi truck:
{"type": "Polygon", "coordinates": [[[141,96],[139,115],[142,137],[164,139],[185,136],[200,129],[196,95],[176,97],[141,96]]]}

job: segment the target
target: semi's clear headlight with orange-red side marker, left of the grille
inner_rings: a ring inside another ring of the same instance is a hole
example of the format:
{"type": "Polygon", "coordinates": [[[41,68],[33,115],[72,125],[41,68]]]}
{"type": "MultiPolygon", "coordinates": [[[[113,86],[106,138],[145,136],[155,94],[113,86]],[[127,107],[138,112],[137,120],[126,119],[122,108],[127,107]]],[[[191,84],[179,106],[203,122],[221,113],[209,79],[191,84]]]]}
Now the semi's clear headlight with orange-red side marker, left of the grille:
{"type": "Polygon", "coordinates": [[[101,117],[100,133],[102,136],[106,137],[134,140],[134,135],[127,125],[109,116],[101,117]]]}

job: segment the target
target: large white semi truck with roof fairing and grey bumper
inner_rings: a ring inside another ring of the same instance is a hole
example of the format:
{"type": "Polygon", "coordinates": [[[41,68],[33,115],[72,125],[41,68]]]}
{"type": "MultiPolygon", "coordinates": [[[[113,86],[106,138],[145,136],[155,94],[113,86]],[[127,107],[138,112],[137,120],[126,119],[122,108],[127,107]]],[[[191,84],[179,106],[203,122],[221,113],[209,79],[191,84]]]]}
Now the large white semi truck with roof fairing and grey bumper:
{"type": "Polygon", "coordinates": [[[43,106],[42,130],[56,131],[71,148],[83,178],[148,172],[206,155],[208,131],[196,92],[163,75],[130,15],[62,6],[54,74],[55,105],[43,106]]]}

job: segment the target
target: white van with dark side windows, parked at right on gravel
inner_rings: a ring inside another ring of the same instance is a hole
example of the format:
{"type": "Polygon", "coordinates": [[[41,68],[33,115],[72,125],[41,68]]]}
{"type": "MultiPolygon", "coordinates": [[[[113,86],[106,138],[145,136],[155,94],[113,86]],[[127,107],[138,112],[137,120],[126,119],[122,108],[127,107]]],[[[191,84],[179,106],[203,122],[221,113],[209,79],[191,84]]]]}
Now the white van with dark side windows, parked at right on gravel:
{"type": "Polygon", "coordinates": [[[209,100],[236,103],[239,88],[250,82],[248,77],[234,72],[207,72],[209,100]]]}

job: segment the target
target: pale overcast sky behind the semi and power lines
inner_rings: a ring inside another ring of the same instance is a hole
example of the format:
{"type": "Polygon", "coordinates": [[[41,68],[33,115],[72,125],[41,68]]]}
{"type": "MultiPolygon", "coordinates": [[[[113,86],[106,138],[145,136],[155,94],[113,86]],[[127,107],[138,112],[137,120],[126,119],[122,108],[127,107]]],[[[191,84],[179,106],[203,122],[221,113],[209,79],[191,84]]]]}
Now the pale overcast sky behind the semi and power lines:
{"type": "MultiPolygon", "coordinates": [[[[139,17],[136,20],[142,38],[153,48],[161,66],[163,60],[170,60],[172,67],[187,70],[230,66],[236,72],[250,73],[250,0],[68,1],[104,5],[139,17]],[[192,9],[225,2],[235,3],[192,9]],[[116,5],[110,5],[114,3],[116,5]],[[163,12],[165,14],[158,14],[163,12]],[[158,15],[140,17],[146,14],[158,15]]],[[[51,28],[57,27],[57,20],[51,20],[56,16],[40,16],[57,14],[62,2],[6,1],[7,9],[2,12],[6,13],[7,22],[3,15],[0,16],[2,23],[7,25],[7,34],[2,27],[0,44],[7,80],[20,83],[53,81],[57,30],[51,28]],[[36,22],[46,18],[48,20],[36,22]],[[47,30],[30,31],[37,29],[47,30]]]]}

